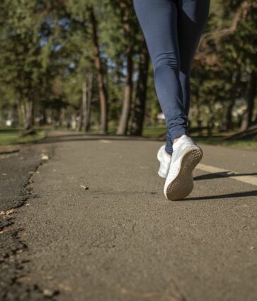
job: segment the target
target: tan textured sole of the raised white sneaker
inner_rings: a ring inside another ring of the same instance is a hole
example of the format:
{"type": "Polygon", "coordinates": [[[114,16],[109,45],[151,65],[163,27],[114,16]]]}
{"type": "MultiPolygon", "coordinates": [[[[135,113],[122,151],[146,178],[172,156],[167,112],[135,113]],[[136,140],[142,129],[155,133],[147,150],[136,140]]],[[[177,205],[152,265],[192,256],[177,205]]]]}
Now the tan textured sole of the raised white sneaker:
{"type": "Polygon", "coordinates": [[[202,159],[202,149],[200,147],[188,149],[181,159],[181,167],[178,176],[169,184],[166,189],[168,200],[181,200],[193,191],[192,172],[195,166],[202,159]]]}

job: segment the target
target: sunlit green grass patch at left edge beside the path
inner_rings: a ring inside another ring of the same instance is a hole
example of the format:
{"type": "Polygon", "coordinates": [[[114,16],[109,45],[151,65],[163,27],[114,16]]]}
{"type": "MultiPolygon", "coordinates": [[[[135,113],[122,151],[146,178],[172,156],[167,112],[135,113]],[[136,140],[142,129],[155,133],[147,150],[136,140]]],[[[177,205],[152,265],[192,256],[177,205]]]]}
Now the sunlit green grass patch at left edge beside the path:
{"type": "Polygon", "coordinates": [[[45,130],[37,130],[35,135],[21,137],[21,131],[17,129],[0,130],[0,145],[25,144],[40,141],[45,137],[45,130]]]}

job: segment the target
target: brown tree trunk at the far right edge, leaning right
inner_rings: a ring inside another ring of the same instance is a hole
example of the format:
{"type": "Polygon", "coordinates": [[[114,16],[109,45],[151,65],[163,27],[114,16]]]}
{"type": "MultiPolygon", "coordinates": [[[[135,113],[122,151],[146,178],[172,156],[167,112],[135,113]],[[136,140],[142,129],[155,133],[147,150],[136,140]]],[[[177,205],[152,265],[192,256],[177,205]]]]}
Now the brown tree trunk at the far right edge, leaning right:
{"type": "Polygon", "coordinates": [[[244,118],[241,123],[241,130],[246,130],[251,125],[251,120],[253,118],[253,108],[254,108],[254,98],[256,96],[256,72],[252,71],[249,80],[249,91],[247,97],[247,108],[244,118]]]}

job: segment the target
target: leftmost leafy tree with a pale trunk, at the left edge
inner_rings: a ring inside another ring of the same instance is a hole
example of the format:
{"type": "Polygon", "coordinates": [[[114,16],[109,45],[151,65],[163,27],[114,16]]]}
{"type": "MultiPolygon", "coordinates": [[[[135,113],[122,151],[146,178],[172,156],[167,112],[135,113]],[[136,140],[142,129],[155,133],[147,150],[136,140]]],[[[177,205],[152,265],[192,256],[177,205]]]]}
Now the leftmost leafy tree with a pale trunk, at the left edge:
{"type": "Polygon", "coordinates": [[[42,8],[35,2],[1,1],[1,82],[16,92],[25,129],[33,127],[35,99],[40,89],[42,8]]]}

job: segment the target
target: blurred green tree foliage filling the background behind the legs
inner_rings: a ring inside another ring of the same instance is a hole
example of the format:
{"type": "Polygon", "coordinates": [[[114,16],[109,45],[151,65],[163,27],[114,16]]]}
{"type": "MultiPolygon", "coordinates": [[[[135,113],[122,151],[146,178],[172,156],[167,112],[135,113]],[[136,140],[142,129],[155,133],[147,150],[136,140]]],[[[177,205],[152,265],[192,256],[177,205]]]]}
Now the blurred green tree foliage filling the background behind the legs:
{"type": "MultiPolygon", "coordinates": [[[[92,7],[98,22],[110,123],[118,125],[120,118],[128,51],[133,55],[132,103],[135,100],[143,36],[132,1],[2,0],[0,110],[18,110],[20,125],[32,126],[37,116],[40,123],[47,122],[47,115],[58,120],[63,109],[69,119],[78,118],[88,74],[93,74],[91,122],[99,123],[92,7]]],[[[252,110],[251,123],[257,120],[254,96],[252,105],[249,104],[249,82],[257,72],[256,19],[254,0],[212,1],[191,74],[192,125],[229,130],[240,125],[247,110],[252,110]]],[[[147,123],[155,124],[161,108],[154,89],[152,64],[147,90],[145,115],[147,123]]],[[[0,121],[1,117],[6,118],[6,113],[0,115],[0,121]]]]}

